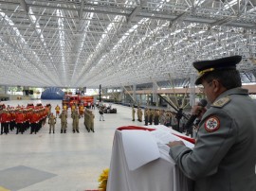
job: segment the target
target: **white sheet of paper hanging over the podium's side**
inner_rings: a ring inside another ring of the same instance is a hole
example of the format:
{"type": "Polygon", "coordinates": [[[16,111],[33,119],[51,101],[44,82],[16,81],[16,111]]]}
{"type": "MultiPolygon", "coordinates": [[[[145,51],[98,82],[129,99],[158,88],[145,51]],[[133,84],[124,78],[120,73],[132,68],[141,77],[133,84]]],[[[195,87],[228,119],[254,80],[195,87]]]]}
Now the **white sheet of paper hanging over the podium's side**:
{"type": "Polygon", "coordinates": [[[122,130],[122,144],[130,170],[160,157],[157,143],[148,130],[122,130]]]}

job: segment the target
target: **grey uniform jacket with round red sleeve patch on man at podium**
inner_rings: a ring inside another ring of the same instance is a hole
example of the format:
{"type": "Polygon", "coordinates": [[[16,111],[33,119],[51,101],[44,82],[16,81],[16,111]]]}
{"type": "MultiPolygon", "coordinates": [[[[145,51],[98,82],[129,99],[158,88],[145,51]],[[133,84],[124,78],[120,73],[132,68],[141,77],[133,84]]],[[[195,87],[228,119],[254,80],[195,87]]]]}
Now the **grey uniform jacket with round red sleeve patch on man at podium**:
{"type": "Polygon", "coordinates": [[[230,89],[203,115],[194,148],[170,148],[175,163],[194,180],[194,191],[256,190],[255,114],[247,90],[230,89]]]}

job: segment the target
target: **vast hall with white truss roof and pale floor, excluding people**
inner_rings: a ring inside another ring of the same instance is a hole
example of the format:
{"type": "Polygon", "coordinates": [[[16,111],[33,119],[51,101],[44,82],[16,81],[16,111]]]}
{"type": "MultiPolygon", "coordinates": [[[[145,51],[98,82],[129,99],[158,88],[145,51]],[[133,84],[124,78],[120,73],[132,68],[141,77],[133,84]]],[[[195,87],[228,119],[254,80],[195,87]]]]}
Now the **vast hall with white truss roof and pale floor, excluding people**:
{"type": "Polygon", "coordinates": [[[255,0],[0,1],[1,104],[51,104],[54,111],[62,100],[41,99],[44,91],[92,89],[118,111],[105,113],[105,121],[93,111],[95,133],[81,119],[73,134],[69,110],[65,136],[59,118],[54,135],[46,124],[36,136],[0,136],[0,190],[96,189],[115,130],[143,125],[132,122],[129,106],[168,108],[164,95],[176,108],[190,108],[203,97],[193,61],[241,55],[237,68],[253,97],[255,33],[255,0]],[[17,96],[9,87],[42,91],[17,96]],[[29,179],[9,179],[19,172],[29,179]]]}

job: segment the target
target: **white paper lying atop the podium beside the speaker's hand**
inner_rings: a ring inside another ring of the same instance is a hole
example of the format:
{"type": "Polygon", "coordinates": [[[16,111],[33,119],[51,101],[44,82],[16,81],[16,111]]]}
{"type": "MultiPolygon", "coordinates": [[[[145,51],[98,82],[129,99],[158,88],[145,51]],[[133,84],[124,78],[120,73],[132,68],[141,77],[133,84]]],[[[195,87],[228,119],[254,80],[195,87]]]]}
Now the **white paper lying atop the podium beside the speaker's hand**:
{"type": "MultiPolygon", "coordinates": [[[[170,141],[182,141],[188,148],[193,148],[194,145],[178,136],[175,136],[170,131],[166,130],[153,130],[150,132],[157,143],[168,144],[170,141]]],[[[185,135],[183,135],[185,136],[185,135]]]]}

